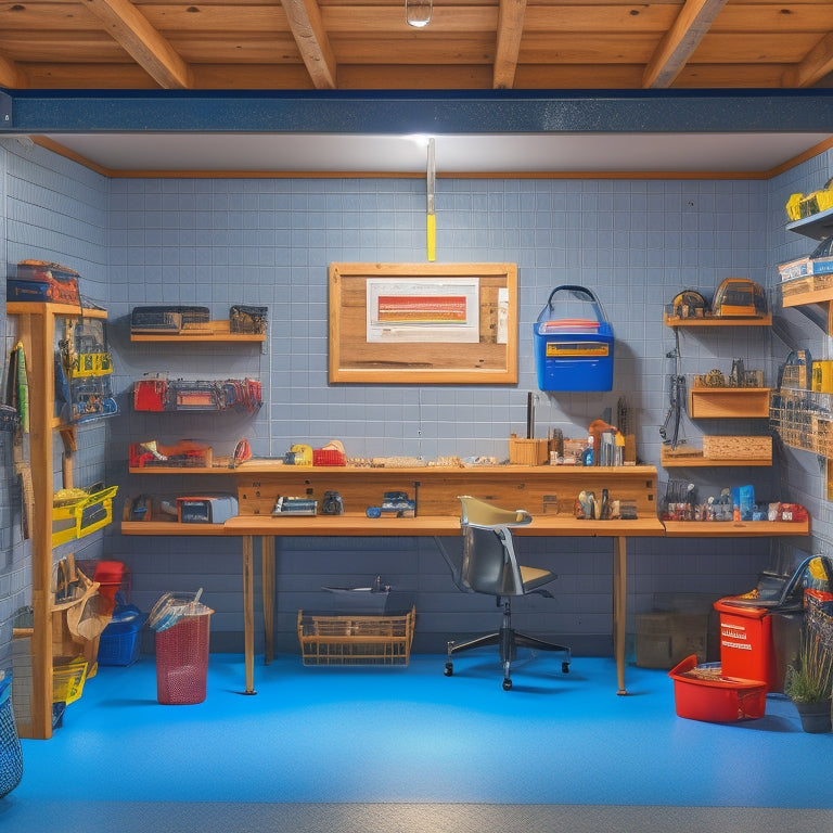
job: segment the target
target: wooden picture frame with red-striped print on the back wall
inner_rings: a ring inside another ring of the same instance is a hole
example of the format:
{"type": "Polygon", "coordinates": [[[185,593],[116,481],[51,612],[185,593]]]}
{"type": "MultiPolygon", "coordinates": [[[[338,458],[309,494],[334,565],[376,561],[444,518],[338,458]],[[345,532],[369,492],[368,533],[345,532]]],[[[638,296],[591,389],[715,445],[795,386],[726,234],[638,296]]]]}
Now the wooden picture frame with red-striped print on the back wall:
{"type": "Polygon", "coordinates": [[[515,264],[331,264],[330,382],[517,383],[515,264]]]}

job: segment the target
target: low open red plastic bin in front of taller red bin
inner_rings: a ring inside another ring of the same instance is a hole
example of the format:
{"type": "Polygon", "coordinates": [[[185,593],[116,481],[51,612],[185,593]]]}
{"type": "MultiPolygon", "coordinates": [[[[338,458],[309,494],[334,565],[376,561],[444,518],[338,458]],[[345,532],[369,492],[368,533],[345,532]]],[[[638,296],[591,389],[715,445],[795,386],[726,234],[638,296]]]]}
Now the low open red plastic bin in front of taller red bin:
{"type": "Polygon", "coordinates": [[[697,666],[696,654],[668,671],[674,680],[674,701],[679,717],[709,723],[733,723],[764,717],[767,684],[762,680],[723,677],[719,663],[697,666]],[[703,669],[704,677],[692,675],[703,669]]]}

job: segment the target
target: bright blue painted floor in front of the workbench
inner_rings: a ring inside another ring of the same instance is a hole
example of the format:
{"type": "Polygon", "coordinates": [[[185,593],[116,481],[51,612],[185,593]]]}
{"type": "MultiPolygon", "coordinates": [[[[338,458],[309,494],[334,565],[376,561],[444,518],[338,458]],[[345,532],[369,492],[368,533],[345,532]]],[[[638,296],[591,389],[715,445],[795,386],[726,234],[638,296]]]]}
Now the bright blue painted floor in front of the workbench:
{"type": "MultiPolygon", "coordinates": [[[[665,671],[612,659],[412,656],[407,668],[255,666],[213,654],[198,705],[156,700],[155,661],[102,667],[50,741],[24,741],[5,802],[487,803],[833,808],[833,734],[792,703],[732,725],[676,716],[665,671]]],[[[0,828],[2,828],[0,802],[0,828]]],[[[118,830],[115,825],[113,830],[118,830]]]]}

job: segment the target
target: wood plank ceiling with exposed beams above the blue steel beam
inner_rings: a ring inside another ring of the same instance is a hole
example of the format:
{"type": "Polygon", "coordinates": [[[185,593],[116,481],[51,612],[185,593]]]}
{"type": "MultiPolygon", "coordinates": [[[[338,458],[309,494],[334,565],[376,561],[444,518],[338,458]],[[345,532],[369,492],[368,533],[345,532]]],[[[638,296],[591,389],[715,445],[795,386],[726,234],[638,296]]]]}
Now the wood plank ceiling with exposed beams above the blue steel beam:
{"type": "Polygon", "coordinates": [[[833,86],[825,0],[21,0],[9,89],[797,89],[833,86]]]}

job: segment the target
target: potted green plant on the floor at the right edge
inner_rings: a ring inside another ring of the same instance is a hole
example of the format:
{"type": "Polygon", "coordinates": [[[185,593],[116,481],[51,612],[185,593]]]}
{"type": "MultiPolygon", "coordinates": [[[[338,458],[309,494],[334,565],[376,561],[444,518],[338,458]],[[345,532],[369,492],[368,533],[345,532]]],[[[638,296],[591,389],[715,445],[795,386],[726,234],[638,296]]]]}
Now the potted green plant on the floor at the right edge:
{"type": "Polygon", "coordinates": [[[833,650],[805,626],[796,662],[784,674],[784,694],[795,703],[805,732],[831,730],[831,692],[833,650]]]}

